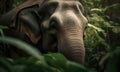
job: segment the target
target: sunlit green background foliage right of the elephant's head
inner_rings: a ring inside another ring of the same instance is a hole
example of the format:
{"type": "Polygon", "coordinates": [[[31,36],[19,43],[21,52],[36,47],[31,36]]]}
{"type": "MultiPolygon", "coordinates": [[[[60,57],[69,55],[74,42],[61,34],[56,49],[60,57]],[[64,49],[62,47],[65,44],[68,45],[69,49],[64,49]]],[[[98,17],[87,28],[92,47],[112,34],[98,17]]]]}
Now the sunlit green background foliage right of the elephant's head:
{"type": "MultiPolygon", "coordinates": [[[[101,3],[102,0],[84,0],[89,21],[85,37],[86,66],[98,72],[105,71],[106,66],[108,66],[109,69],[107,69],[107,72],[110,72],[110,70],[111,72],[117,72],[115,71],[115,67],[118,64],[114,61],[114,57],[113,62],[111,62],[112,64],[107,62],[107,60],[114,52],[116,53],[116,49],[120,49],[120,29],[118,29],[120,25],[116,22],[116,19],[119,18],[119,15],[117,15],[119,13],[117,12],[120,10],[116,4],[103,7],[101,3]],[[116,10],[111,10],[111,7],[116,8],[116,10]],[[118,17],[114,16],[113,18],[108,15],[109,13],[115,13],[118,17]],[[106,65],[107,63],[108,65],[106,65]],[[112,67],[112,65],[116,66],[112,67]]],[[[116,57],[117,59],[120,57],[119,52],[116,57]]]]}

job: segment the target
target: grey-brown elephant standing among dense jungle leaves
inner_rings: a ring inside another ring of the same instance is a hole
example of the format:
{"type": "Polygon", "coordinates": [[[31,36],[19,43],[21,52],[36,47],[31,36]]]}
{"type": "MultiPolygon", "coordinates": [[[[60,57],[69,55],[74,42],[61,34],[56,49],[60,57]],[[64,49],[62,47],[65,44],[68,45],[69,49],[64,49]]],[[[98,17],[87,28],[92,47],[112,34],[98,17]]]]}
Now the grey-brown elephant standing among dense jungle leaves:
{"type": "Polygon", "coordinates": [[[79,0],[28,0],[0,18],[9,27],[6,35],[24,40],[42,53],[60,52],[80,64],[85,58],[87,22],[79,0]]]}

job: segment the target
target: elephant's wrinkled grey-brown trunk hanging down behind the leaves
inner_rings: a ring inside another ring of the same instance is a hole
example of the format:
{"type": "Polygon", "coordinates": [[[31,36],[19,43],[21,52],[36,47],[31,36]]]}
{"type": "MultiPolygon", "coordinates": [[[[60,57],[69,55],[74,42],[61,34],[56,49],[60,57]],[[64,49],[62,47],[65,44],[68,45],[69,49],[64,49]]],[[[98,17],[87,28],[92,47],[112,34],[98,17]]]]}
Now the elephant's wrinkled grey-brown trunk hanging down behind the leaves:
{"type": "MultiPolygon", "coordinates": [[[[79,28],[65,29],[64,34],[61,34],[61,39],[58,41],[58,51],[63,53],[68,59],[84,63],[85,48],[83,42],[83,31],[79,28]]],[[[60,38],[60,37],[59,37],[60,38]]]]}

